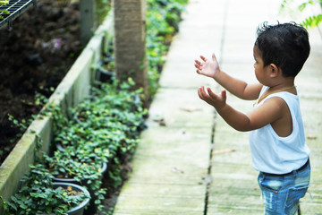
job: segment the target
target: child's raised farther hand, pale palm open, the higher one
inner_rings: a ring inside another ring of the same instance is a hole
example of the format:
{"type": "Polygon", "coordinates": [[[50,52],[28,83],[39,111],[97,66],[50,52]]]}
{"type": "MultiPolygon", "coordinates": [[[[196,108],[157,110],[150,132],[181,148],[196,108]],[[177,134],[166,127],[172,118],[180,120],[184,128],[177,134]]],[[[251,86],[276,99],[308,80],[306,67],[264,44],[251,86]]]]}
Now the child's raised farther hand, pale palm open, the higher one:
{"type": "Polygon", "coordinates": [[[212,54],[211,59],[207,59],[205,56],[200,56],[201,61],[195,60],[195,67],[197,68],[197,73],[203,74],[210,78],[215,78],[220,72],[219,64],[216,60],[215,54],[212,54]]]}

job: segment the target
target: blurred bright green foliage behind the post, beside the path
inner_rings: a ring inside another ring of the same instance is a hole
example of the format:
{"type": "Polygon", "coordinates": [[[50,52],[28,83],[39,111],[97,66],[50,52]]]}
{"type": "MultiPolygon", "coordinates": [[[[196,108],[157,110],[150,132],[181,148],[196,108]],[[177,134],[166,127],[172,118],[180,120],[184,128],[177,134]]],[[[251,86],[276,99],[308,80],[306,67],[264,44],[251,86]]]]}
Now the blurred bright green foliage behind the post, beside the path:
{"type": "Polygon", "coordinates": [[[159,73],[187,3],[188,0],[147,0],[148,91],[151,96],[157,92],[159,73]]]}

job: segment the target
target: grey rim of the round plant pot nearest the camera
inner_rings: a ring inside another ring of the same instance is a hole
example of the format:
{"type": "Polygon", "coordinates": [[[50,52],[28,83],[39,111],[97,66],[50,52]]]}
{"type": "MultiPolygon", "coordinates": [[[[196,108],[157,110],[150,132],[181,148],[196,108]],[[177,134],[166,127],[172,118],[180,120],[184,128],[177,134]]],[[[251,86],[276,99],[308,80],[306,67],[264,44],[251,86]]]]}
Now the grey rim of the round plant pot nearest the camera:
{"type": "MultiPolygon", "coordinates": [[[[86,193],[88,196],[90,196],[89,191],[80,185],[75,185],[75,184],[71,184],[71,183],[54,183],[55,188],[58,188],[58,187],[67,188],[67,186],[72,186],[73,190],[86,193]]],[[[89,199],[90,198],[88,198],[84,202],[80,202],[80,204],[78,206],[72,208],[69,211],[66,211],[66,213],[68,215],[83,215],[85,207],[89,204],[89,199]]],[[[51,214],[43,213],[43,214],[38,214],[38,215],[55,215],[55,214],[54,213],[51,213],[51,214]]]]}

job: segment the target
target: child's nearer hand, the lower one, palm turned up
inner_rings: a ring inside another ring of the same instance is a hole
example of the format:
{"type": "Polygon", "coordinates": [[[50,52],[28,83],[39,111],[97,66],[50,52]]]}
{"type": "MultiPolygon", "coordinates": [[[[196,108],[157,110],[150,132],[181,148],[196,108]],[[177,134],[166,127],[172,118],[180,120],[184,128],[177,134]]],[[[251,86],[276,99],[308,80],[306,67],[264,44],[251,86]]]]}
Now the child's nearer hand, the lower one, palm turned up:
{"type": "Polygon", "coordinates": [[[199,87],[198,89],[199,98],[206,101],[209,105],[217,108],[225,107],[226,104],[226,90],[222,90],[221,93],[214,93],[209,87],[207,91],[205,88],[199,87]]]}

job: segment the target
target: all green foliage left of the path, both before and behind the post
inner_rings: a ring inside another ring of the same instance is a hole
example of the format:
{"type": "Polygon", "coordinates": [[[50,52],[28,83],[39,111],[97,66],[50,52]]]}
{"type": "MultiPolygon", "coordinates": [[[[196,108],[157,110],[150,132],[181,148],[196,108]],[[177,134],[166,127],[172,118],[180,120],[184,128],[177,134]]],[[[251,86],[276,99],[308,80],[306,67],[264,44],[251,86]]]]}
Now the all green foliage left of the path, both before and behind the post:
{"type": "MultiPolygon", "coordinates": [[[[168,46],[178,30],[183,5],[187,2],[147,0],[147,55],[151,96],[157,91],[159,72],[165,63],[168,46]]],[[[114,62],[111,61],[109,66],[113,69],[114,62]]],[[[131,78],[127,82],[113,80],[112,83],[97,83],[89,98],[67,111],[54,104],[47,105],[42,115],[53,118],[52,143],[62,145],[63,150],[55,150],[52,156],[43,154],[38,164],[31,167],[30,174],[22,178],[22,189],[13,196],[11,202],[4,204],[9,214],[36,214],[36,210],[40,209],[47,213],[64,214],[77,198],[69,199],[63,190],[53,189],[54,176],[72,177],[80,183],[86,181],[86,186],[95,195],[97,209],[103,208],[101,201],[105,198],[106,190],[101,188],[102,163],[109,162],[108,165],[111,165],[108,176],[113,185],[121,185],[123,178],[120,166],[123,158],[135,150],[140,142],[140,132],[145,128],[147,109],[142,104],[143,90],[132,90],[134,85],[131,78]],[[32,202],[34,200],[37,202],[32,202]],[[66,201],[71,205],[66,206],[66,201]]],[[[38,95],[37,104],[46,102],[47,99],[38,95]]],[[[10,118],[21,130],[27,128],[25,121],[19,122],[12,116],[10,118]]]]}

